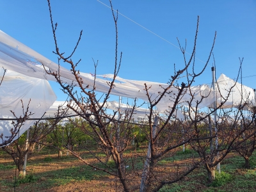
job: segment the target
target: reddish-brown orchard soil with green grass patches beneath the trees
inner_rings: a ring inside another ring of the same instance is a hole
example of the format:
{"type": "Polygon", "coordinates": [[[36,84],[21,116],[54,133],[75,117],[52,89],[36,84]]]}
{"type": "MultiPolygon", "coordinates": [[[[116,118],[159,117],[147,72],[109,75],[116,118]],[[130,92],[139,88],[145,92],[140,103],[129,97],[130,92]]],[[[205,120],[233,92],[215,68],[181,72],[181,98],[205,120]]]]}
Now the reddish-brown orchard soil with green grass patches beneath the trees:
{"type": "MultiPolygon", "coordinates": [[[[256,156],[254,155],[252,159],[256,159],[256,156]]],[[[93,158],[90,156],[86,157],[86,160],[93,163],[93,158]]],[[[179,161],[186,164],[188,159],[181,158],[179,161]]],[[[209,186],[206,172],[200,167],[188,177],[165,186],[160,191],[256,191],[256,161],[250,170],[244,169],[243,163],[243,158],[237,154],[228,156],[221,163],[221,171],[226,175],[216,182],[216,186],[209,186]]],[[[169,170],[170,173],[170,167],[173,165],[170,158],[164,159],[160,164],[159,172],[164,173],[169,170]]],[[[140,168],[142,167],[143,164],[140,164],[140,168]]],[[[28,177],[20,179],[17,174],[10,156],[0,152],[0,191],[123,191],[121,183],[114,176],[94,170],[76,157],[67,154],[63,154],[63,157],[58,159],[58,154],[52,151],[35,154],[29,158],[26,172],[28,177]],[[14,186],[15,180],[18,182],[14,186]]],[[[138,191],[140,174],[131,173],[129,178],[131,178],[128,183],[131,191],[136,191],[135,189],[138,191]]]]}

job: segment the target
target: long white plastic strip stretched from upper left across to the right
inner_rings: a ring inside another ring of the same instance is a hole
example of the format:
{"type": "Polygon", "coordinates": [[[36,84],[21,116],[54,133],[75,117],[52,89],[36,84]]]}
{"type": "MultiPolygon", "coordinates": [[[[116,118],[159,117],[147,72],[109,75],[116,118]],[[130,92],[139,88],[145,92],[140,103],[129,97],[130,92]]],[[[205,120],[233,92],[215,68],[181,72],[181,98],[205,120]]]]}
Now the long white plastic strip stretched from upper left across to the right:
{"type": "MultiPolygon", "coordinates": [[[[40,79],[47,79],[51,81],[56,81],[53,76],[48,75],[45,72],[45,68],[51,70],[51,72],[58,71],[58,65],[44,56],[38,54],[33,51],[29,47],[24,44],[21,44],[17,40],[13,39],[11,36],[6,35],[3,31],[0,31],[0,65],[4,68],[8,68],[10,70],[20,72],[29,77],[36,77],[40,79]],[[44,67],[43,67],[44,65],[44,67]]],[[[72,72],[67,68],[60,67],[60,78],[63,83],[74,84],[76,85],[76,79],[72,72]]],[[[81,78],[83,79],[84,87],[88,86],[88,89],[93,88],[94,79],[95,79],[95,88],[96,91],[107,93],[109,90],[108,82],[113,79],[112,74],[106,74],[94,77],[92,74],[86,74],[81,72],[81,78]]],[[[168,84],[164,83],[156,83],[156,82],[148,82],[148,81],[136,81],[129,79],[122,79],[121,77],[116,77],[115,88],[111,91],[111,94],[118,95],[122,97],[129,98],[140,98],[148,102],[147,93],[145,91],[145,83],[147,84],[148,95],[150,95],[151,100],[156,100],[159,98],[159,93],[163,92],[163,88],[168,87],[168,84]]],[[[231,81],[225,75],[221,75],[218,79],[218,83],[220,83],[220,91],[221,95],[227,95],[227,90],[232,85],[234,85],[234,81],[231,81]]],[[[245,88],[245,86],[243,86],[245,88]]],[[[248,90],[246,88],[246,92],[239,92],[239,85],[233,88],[232,99],[228,98],[228,102],[236,105],[237,100],[241,100],[241,93],[248,94],[248,90]],[[236,92],[236,94],[235,94],[236,92]],[[234,102],[236,101],[236,102],[234,102]]],[[[175,98],[178,93],[178,88],[172,86],[170,90],[164,95],[163,99],[157,104],[157,111],[163,112],[166,110],[170,110],[173,106],[173,102],[175,102],[175,98]]],[[[184,94],[182,99],[179,100],[179,103],[186,104],[186,102],[190,101],[193,98],[193,102],[191,102],[192,106],[196,106],[196,101],[200,100],[202,96],[205,98],[200,104],[198,108],[204,108],[205,106],[211,106],[212,102],[215,99],[218,99],[219,103],[221,102],[221,95],[217,92],[213,92],[211,87],[207,84],[198,85],[191,87],[191,90],[184,90],[184,94]],[[191,91],[191,92],[190,92],[191,91]],[[191,94],[192,93],[192,94],[191,94]]],[[[252,89],[250,89],[250,99],[253,100],[254,95],[252,89]]],[[[223,99],[222,99],[223,100],[223,99]]],[[[230,104],[226,104],[225,107],[230,107],[230,104]]]]}

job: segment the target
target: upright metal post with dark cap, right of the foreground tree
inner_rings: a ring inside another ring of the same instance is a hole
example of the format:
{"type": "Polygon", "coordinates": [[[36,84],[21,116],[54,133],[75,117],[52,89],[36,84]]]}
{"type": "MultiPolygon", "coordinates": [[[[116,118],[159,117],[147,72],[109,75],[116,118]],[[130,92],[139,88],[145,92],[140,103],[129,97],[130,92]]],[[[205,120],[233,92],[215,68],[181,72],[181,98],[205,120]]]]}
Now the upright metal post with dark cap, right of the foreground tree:
{"type": "MultiPolygon", "coordinates": [[[[217,111],[216,111],[216,108],[217,108],[217,99],[216,99],[216,86],[215,86],[215,67],[212,67],[212,89],[214,90],[214,102],[213,102],[213,107],[214,107],[214,131],[215,131],[215,134],[216,134],[216,140],[215,140],[215,147],[216,147],[216,150],[218,150],[219,148],[219,138],[218,138],[218,129],[217,129],[217,111]]],[[[218,153],[219,154],[219,153],[218,153]]],[[[217,165],[217,170],[219,171],[220,173],[220,163],[218,163],[217,165]]]]}

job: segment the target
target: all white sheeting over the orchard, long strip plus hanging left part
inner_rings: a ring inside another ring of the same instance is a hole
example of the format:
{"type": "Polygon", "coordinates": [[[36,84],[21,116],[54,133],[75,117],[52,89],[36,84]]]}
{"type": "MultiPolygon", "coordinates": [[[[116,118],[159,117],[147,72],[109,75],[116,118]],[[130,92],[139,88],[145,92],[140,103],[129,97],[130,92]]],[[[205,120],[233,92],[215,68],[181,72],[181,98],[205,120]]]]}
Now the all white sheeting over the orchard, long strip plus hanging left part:
{"type": "MultiPolygon", "coordinates": [[[[52,106],[54,100],[56,100],[56,95],[48,83],[48,81],[56,81],[56,79],[54,76],[47,74],[45,70],[51,70],[51,72],[58,72],[58,70],[60,70],[60,79],[62,83],[77,86],[76,78],[70,70],[61,66],[59,67],[58,64],[45,58],[38,52],[33,51],[33,49],[30,49],[1,30],[0,67],[7,69],[3,83],[0,86],[0,118],[13,118],[14,116],[10,110],[14,111],[16,116],[22,115],[21,99],[24,102],[25,108],[28,106],[29,99],[31,99],[29,111],[34,113],[31,117],[40,118],[40,116],[44,115],[45,111],[47,111],[52,106]]],[[[4,71],[2,69],[0,71],[0,78],[3,77],[3,72],[4,71]]],[[[95,91],[102,93],[108,93],[108,82],[113,79],[113,74],[97,75],[94,77],[92,74],[80,72],[79,76],[82,78],[84,87],[88,86],[88,89],[92,90],[93,86],[95,86],[95,91]]],[[[145,102],[148,102],[145,83],[150,87],[150,89],[148,89],[148,94],[150,95],[150,99],[153,101],[159,97],[164,88],[169,86],[164,83],[136,81],[116,77],[115,88],[111,90],[111,94],[133,99],[142,99],[145,102]]],[[[216,92],[213,91],[211,86],[208,84],[192,86],[191,93],[193,94],[193,101],[191,102],[191,106],[195,107],[196,101],[200,100],[202,96],[205,96],[205,99],[202,100],[198,108],[211,108],[212,103],[215,100],[217,100],[217,104],[220,104],[220,102],[223,101],[221,95],[224,98],[227,97],[228,90],[234,86],[235,81],[224,74],[221,74],[217,83],[220,90],[216,89],[216,92]]],[[[172,86],[157,104],[157,112],[165,113],[166,111],[170,111],[178,92],[178,88],[172,86]]],[[[255,104],[253,89],[236,83],[236,86],[232,88],[231,95],[228,97],[223,108],[239,106],[239,104],[241,104],[241,100],[242,103],[244,102],[243,98],[246,98],[255,104]]],[[[181,106],[186,106],[191,99],[192,95],[189,90],[185,89],[182,93],[182,98],[179,100],[179,104],[181,106]]],[[[56,109],[56,103],[54,106],[49,109],[51,112],[49,112],[48,115],[50,113],[52,114],[52,111],[56,109]]],[[[113,110],[119,108],[119,106],[113,102],[108,102],[105,107],[113,110]]],[[[127,109],[127,106],[124,108],[127,109]]],[[[148,114],[148,109],[136,109],[135,113],[141,117],[141,114],[142,116],[148,114]]],[[[183,118],[183,115],[179,110],[177,110],[175,114],[177,118],[183,118]]],[[[25,122],[20,130],[20,134],[26,131],[32,124],[33,121],[25,122]]],[[[4,136],[9,136],[10,129],[12,129],[10,122],[0,122],[0,134],[3,133],[4,136]]]]}

